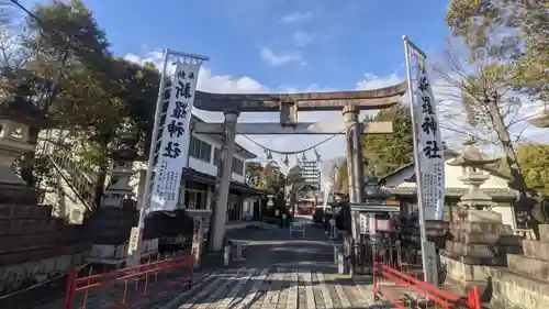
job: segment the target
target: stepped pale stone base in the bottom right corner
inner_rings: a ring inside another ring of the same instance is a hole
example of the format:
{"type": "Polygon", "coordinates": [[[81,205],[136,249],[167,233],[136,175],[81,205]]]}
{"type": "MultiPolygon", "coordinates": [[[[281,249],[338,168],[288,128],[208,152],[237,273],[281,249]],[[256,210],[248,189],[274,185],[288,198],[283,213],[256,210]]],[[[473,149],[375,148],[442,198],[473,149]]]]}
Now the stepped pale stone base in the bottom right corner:
{"type": "Polygon", "coordinates": [[[549,308],[549,224],[539,233],[539,241],[523,241],[524,255],[507,255],[508,269],[494,272],[493,308],[549,308]]]}

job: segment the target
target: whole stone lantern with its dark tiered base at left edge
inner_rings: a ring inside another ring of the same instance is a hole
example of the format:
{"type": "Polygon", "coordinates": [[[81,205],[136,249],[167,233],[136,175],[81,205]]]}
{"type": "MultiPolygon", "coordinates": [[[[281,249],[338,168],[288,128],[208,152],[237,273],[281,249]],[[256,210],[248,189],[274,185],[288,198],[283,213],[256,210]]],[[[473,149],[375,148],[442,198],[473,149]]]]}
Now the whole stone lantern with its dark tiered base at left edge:
{"type": "Polygon", "coordinates": [[[13,168],[15,159],[36,146],[29,141],[29,126],[51,123],[23,97],[0,99],[0,308],[40,301],[51,293],[49,285],[24,289],[27,284],[44,283],[81,264],[90,249],[81,227],[52,217],[52,207],[38,205],[38,191],[13,168]],[[12,297],[1,297],[15,290],[12,297]]]}

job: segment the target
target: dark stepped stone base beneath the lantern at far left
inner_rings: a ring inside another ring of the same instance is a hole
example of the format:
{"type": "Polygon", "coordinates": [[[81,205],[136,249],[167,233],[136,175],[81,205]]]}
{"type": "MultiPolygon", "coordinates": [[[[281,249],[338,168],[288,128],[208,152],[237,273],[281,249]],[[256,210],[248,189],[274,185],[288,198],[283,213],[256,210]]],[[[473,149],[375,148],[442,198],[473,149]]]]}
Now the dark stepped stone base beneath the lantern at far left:
{"type": "Polygon", "coordinates": [[[52,218],[51,212],[48,206],[0,205],[0,295],[82,263],[91,247],[82,241],[82,227],[52,218]]]}

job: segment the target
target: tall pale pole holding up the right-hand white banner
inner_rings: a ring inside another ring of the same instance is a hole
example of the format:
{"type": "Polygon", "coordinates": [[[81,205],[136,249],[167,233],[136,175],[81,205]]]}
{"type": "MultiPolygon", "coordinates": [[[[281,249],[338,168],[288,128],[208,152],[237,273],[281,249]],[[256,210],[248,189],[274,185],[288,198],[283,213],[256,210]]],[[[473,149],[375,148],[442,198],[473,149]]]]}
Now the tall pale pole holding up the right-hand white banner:
{"type": "MultiPolygon", "coordinates": [[[[415,106],[414,106],[414,92],[413,92],[413,82],[412,82],[412,59],[410,54],[410,41],[406,35],[402,36],[404,41],[404,53],[406,54],[406,79],[408,82],[408,100],[410,100],[410,113],[412,119],[412,134],[413,134],[413,143],[414,143],[414,173],[415,173],[415,183],[417,189],[417,210],[419,213],[419,239],[422,245],[422,264],[424,272],[424,280],[427,282],[427,278],[432,278],[432,274],[428,274],[430,267],[427,267],[428,258],[427,258],[427,250],[425,249],[425,244],[427,243],[427,230],[425,228],[425,209],[423,203],[423,181],[419,166],[419,156],[418,156],[418,143],[417,143],[417,126],[416,126],[416,114],[415,114],[415,106]]],[[[432,283],[434,284],[434,283],[432,283]]],[[[436,283],[438,284],[438,283],[436,283]]]]}

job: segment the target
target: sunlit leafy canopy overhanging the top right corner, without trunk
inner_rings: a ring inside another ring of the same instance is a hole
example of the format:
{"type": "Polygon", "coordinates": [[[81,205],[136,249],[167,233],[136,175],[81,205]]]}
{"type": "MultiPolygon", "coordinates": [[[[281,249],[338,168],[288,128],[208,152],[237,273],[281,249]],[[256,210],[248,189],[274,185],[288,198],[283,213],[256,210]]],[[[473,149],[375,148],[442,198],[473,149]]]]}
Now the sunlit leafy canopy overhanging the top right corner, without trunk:
{"type": "Polygon", "coordinates": [[[452,0],[446,22],[478,60],[486,48],[513,70],[514,88],[535,99],[549,98],[549,2],[452,0]]]}

